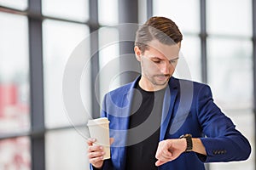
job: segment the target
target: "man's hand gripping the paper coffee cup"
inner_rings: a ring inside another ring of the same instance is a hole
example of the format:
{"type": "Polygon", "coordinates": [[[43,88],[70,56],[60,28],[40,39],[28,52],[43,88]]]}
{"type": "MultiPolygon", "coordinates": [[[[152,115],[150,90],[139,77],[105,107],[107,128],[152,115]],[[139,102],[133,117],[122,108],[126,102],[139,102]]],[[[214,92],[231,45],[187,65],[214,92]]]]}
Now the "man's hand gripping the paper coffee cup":
{"type": "Polygon", "coordinates": [[[88,139],[88,158],[89,162],[93,167],[102,168],[103,165],[103,156],[105,154],[102,145],[93,145],[96,142],[96,139],[88,139]]]}

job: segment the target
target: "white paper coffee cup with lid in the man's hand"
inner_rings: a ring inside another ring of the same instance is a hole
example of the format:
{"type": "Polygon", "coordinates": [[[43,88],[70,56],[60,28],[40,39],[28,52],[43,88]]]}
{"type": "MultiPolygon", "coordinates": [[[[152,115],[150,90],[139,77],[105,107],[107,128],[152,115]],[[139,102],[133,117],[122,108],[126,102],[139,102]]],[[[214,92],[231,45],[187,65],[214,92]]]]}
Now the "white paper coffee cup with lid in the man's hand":
{"type": "Polygon", "coordinates": [[[105,155],[103,159],[110,158],[109,144],[109,121],[107,117],[89,120],[87,123],[90,132],[90,138],[96,139],[94,144],[102,145],[105,155]]]}

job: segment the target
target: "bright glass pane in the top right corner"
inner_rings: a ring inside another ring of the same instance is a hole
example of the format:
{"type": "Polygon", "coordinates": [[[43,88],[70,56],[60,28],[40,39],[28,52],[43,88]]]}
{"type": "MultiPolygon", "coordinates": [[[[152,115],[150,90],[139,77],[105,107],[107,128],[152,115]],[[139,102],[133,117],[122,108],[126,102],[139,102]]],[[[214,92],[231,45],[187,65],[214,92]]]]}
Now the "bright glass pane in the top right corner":
{"type": "Polygon", "coordinates": [[[252,35],[251,0],[207,1],[208,33],[228,35],[252,35]]]}

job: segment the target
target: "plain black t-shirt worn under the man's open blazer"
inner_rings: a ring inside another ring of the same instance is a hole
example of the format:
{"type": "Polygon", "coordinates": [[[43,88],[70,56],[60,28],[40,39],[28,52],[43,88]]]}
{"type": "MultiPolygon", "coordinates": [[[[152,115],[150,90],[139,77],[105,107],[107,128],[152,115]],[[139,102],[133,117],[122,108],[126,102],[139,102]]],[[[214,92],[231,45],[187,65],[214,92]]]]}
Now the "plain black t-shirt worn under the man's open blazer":
{"type": "Polygon", "coordinates": [[[144,91],[137,85],[131,105],[127,136],[126,170],[154,170],[160,138],[160,122],[165,88],[144,91]]]}

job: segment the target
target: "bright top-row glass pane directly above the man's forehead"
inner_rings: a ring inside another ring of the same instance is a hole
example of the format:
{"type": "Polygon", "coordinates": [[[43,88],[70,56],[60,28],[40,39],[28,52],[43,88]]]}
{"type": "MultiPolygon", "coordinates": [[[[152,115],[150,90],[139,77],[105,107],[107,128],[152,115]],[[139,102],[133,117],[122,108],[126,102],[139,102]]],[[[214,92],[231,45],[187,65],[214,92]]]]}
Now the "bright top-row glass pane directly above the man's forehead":
{"type": "Polygon", "coordinates": [[[199,0],[153,0],[153,15],[173,20],[180,30],[200,31],[199,0]]]}

